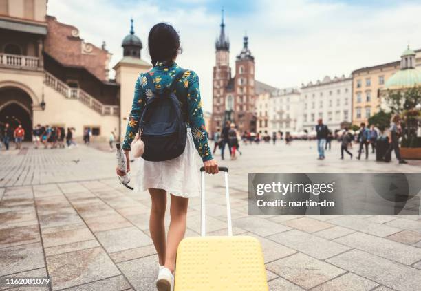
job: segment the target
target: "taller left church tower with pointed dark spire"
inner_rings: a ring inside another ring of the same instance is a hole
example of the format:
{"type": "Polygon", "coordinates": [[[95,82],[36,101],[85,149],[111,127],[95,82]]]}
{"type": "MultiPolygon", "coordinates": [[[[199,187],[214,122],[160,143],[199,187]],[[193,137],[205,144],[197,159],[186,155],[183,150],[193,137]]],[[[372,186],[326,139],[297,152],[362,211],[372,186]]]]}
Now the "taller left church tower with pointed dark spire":
{"type": "Polygon", "coordinates": [[[215,132],[217,127],[222,127],[226,109],[231,109],[233,97],[227,104],[225,100],[226,88],[231,79],[230,68],[230,42],[225,35],[224,10],[222,10],[221,31],[215,41],[215,66],[213,67],[213,114],[210,131],[215,132]],[[228,108],[226,108],[228,105],[228,108]]]}

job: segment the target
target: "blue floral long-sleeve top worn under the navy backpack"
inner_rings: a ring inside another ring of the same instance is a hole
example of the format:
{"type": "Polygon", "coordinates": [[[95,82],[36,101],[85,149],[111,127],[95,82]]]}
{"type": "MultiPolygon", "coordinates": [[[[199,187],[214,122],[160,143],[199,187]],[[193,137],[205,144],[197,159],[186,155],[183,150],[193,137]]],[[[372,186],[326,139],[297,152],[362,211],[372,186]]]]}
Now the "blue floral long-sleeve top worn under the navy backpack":
{"type": "MultiPolygon", "coordinates": [[[[133,105],[131,107],[126,136],[122,148],[130,150],[130,144],[139,130],[139,120],[142,116],[144,105],[151,98],[152,91],[147,87],[146,74],[153,79],[155,90],[159,91],[169,87],[177,72],[182,70],[175,62],[158,63],[147,73],[140,74],[136,80],[133,105]]],[[[182,78],[175,85],[175,95],[182,105],[183,114],[186,116],[188,126],[191,127],[195,147],[205,162],[212,160],[212,151],[208,144],[208,134],[203,118],[202,101],[200,100],[199,77],[191,70],[186,70],[182,78]]]]}

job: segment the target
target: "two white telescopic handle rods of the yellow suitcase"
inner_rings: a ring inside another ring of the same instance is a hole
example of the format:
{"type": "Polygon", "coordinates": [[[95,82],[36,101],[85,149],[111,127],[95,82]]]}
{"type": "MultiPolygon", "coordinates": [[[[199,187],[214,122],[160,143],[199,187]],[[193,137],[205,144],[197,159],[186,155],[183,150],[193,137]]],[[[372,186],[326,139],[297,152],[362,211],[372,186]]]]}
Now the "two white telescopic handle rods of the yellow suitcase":
{"type": "MultiPolygon", "coordinates": [[[[230,206],[230,192],[228,188],[228,168],[226,166],[219,166],[219,171],[224,172],[225,179],[225,198],[226,198],[226,220],[228,222],[228,236],[233,235],[233,223],[231,222],[231,206],[230,206]]],[[[201,226],[200,226],[200,235],[202,237],[206,236],[206,196],[205,196],[205,184],[204,184],[204,166],[200,168],[200,175],[202,182],[200,183],[200,197],[201,197],[201,226]]]]}

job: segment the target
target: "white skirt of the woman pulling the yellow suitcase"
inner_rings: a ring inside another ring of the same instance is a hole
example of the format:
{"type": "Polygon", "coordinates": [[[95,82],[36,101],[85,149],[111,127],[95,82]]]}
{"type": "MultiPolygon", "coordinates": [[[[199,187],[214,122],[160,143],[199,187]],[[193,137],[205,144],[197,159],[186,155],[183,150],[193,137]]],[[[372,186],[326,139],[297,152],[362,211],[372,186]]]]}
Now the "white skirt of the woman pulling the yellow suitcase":
{"type": "Polygon", "coordinates": [[[198,157],[191,129],[188,128],[186,148],[179,157],[162,162],[149,162],[138,158],[134,191],[141,192],[155,188],[184,198],[199,196],[198,157]]]}

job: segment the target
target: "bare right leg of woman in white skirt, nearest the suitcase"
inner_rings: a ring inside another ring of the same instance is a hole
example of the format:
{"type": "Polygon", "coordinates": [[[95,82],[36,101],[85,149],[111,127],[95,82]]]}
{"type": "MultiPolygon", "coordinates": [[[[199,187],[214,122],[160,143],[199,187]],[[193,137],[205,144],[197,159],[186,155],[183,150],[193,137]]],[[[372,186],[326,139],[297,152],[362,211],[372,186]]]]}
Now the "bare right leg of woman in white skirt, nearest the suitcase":
{"type": "Polygon", "coordinates": [[[166,239],[165,267],[174,272],[178,244],[186,233],[188,198],[171,194],[171,223],[166,239]]]}

